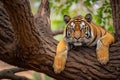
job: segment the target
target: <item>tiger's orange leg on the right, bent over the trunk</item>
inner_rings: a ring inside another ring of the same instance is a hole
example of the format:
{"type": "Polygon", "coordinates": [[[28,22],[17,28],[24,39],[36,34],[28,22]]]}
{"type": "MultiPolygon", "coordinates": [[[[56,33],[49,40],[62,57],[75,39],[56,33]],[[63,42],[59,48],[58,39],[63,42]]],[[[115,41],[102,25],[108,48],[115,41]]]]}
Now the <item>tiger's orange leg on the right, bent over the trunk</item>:
{"type": "Polygon", "coordinates": [[[114,42],[114,37],[110,33],[100,38],[97,42],[97,58],[101,64],[106,64],[109,61],[109,46],[114,42]]]}

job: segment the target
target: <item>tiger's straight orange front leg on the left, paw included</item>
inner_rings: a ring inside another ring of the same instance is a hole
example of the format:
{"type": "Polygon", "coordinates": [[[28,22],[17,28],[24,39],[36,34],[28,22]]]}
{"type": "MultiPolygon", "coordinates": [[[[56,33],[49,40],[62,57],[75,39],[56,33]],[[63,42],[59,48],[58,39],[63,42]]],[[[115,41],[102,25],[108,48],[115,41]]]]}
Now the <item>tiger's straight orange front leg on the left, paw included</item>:
{"type": "Polygon", "coordinates": [[[53,64],[55,73],[60,73],[61,71],[64,70],[67,59],[67,52],[68,52],[67,42],[63,38],[57,45],[57,51],[53,64]]]}

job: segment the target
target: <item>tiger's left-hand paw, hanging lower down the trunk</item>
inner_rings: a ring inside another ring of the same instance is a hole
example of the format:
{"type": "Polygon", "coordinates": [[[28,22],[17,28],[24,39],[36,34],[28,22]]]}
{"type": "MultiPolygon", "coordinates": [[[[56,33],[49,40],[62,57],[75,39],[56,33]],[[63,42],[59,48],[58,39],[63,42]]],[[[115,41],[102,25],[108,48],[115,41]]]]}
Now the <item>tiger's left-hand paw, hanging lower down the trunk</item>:
{"type": "Polygon", "coordinates": [[[63,71],[64,68],[65,68],[65,64],[66,64],[66,58],[65,58],[65,56],[56,55],[55,56],[55,60],[54,60],[54,64],[53,64],[54,72],[56,74],[58,74],[61,71],[63,71]]]}

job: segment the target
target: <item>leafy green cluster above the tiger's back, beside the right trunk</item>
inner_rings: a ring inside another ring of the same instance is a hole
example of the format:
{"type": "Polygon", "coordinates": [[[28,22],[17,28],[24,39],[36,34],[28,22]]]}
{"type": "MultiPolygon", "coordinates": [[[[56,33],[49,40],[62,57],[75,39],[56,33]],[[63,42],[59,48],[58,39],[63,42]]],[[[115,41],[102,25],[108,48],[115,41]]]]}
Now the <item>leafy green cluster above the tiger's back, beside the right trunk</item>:
{"type": "Polygon", "coordinates": [[[112,9],[109,0],[106,0],[97,10],[94,19],[96,24],[104,26],[111,33],[113,32],[112,9]]]}

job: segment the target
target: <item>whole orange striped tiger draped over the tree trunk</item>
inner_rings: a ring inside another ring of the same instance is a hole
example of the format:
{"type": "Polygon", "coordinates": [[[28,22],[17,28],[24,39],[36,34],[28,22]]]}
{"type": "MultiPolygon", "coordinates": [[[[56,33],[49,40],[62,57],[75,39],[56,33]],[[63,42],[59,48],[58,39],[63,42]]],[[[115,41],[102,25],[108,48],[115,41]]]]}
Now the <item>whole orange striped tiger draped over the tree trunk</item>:
{"type": "Polygon", "coordinates": [[[64,15],[66,27],[63,38],[57,45],[54,58],[54,72],[61,73],[64,70],[67,54],[70,45],[74,46],[96,46],[96,56],[98,62],[106,64],[109,61],[109,47],[114,43],[114,36],[100,26],[92,22],[92,15],[86,14],[85,17],[79,15],[71,18],[64,15]]]}

